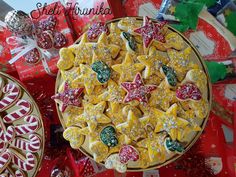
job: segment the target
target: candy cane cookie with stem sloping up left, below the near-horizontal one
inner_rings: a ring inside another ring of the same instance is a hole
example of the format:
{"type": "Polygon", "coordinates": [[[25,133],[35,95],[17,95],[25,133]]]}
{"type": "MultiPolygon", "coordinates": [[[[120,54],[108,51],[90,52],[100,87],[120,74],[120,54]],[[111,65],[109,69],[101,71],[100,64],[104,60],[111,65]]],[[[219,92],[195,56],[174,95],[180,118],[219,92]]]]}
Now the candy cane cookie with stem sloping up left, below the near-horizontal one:
{"type": "Polygon", "coordinates": [[[24,158],[22,157],[21,154],[11,149],[11,156],[12,156],[12,163],[14,163],[16,166],[18,166],[20,169],[24,171],[30,171],[35,166],[36,158],[30,152],[28,152],[26,154],[26,158],[24,158]]]}

